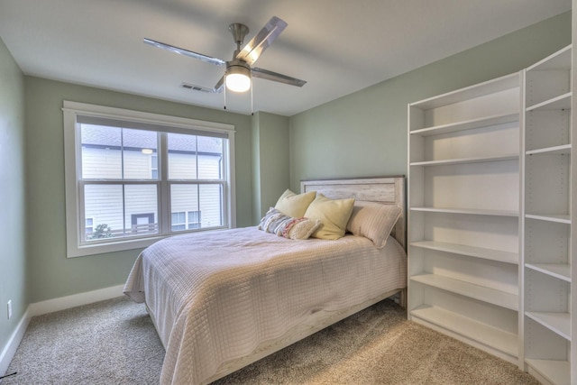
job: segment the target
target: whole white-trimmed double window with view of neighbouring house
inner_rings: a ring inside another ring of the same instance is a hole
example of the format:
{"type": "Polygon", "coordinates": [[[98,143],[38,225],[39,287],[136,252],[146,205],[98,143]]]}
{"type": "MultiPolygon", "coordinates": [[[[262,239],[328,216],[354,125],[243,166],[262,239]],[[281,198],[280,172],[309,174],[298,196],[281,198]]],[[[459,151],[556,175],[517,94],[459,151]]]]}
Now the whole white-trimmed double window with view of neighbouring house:
{"type": "Polygon", "coordinates": [[[233,126],[66,101],[63,112],[69,257],[234,227],[233,126]]]}

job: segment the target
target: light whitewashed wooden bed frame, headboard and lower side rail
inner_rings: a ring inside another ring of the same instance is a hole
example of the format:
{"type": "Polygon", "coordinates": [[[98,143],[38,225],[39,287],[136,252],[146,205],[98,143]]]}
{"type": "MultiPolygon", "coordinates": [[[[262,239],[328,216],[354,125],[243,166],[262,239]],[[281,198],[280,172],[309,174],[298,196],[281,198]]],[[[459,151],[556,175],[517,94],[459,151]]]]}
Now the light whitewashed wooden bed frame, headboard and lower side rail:
{"type": "MultiPolygon", "coordinates": [[[[405,177],[384,177],[384,178],[365,178],[365,179],[330,179],[330,180],[306,180],[300,184],[301,192],[317,191],[332,199],[345,197],[354,197],[356,200],[378,202],[383,205],[395,205],[402,209],[402,216],[398,219],[397,225],[393,229],[393,236],[397,239],[405,250],[407,250],[406,229],[406,205],[405,205],[405,177]]],[[[280,336],[274,341],[268,341],[259,345],[251,354],[238,360],[225,362],[216,374],[206,383],[223,378],[224,376],[238,371],[239,369],[257,362],[261,358],[280,349],[294,344],[297,341],[313,335],[327,326],[343,320],[347,316],[352,316],[366,307],[380,302],[385,298],[400,294],[400,305],[406,306],[407,289],[395,289],[382,293],[377,298],[371,298],[362,304],[349,307],[336,312],[319,311],[312,314],[305,323],[296,325],[287,333],[280,336]]]]}

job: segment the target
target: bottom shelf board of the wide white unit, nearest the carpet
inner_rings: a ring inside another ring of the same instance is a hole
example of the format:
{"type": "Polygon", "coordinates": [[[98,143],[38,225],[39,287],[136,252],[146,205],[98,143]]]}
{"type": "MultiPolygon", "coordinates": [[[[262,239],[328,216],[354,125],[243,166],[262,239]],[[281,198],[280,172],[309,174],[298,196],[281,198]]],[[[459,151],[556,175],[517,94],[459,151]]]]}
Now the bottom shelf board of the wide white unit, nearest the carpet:
{"type": "Polygon", "coordinates": [[[478,343],[489,345],[500,352],[517,357],[517,335],[441,307],[423,305],[412,310],[410,314],[413,317],[441,326],[478,343]]]}

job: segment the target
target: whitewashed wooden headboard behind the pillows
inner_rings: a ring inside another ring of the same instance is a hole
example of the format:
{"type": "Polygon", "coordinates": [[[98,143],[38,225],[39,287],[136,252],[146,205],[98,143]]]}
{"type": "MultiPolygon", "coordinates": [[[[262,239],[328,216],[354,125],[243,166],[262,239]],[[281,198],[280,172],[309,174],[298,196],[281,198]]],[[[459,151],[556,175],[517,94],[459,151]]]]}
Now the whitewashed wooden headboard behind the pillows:
{"type": "Polygon", "coordinates": [[[395,239],[407,250],[407,212],[405,204],[405,177],[382,177],[363,179],[303,180],[300,192],[316,191],[331,199],[354,197],[355,200],[395,205],[402,209],[397,225],[391,232],[395,239]]]}

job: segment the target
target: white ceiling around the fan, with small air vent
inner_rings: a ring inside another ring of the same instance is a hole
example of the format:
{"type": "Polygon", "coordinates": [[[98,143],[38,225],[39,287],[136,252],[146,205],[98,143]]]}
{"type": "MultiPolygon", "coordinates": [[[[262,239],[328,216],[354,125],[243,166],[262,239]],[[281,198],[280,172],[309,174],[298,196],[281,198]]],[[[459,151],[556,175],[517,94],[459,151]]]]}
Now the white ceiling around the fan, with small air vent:
{"type": "MultiPolygon", "coordinates": [[[[253,81],[254,111],[295,115],[571,9],[571,0],[0,0],[0,38],[23,73],[223,108],[224,73],[144,37],[231,60],[230,23],[249,41],[275,15],[289,26],[256,67],[307,80],[253,81]]],[[[250,114],[250,93],[226,95],[250,114]]]]}

